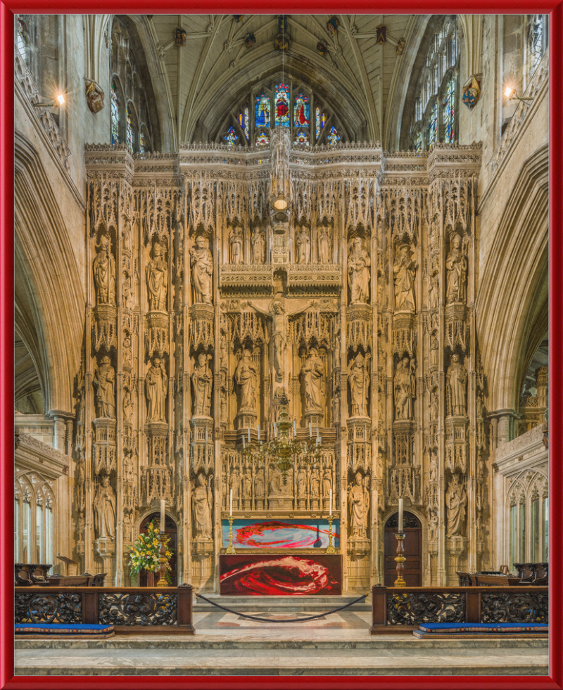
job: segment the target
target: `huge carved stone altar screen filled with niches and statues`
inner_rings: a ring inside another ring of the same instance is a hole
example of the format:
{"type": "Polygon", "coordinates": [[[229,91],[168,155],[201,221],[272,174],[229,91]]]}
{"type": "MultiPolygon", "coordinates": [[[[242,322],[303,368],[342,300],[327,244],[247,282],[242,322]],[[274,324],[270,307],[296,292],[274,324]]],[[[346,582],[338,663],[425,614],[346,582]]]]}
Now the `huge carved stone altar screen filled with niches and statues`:
{"type": "MultiPolygon", "coordinates": [[[[165,499],[179,582],[218,590],[222,517],[340,519],[343,589],[382,581],[398,499],[423,584],[486,558],[474,327],[481,150],[379,144],[87,146],[87,305],[75,378],[75,556],[128,582],[165,499]],[[272,200],[283,193],[286,213],[272,200]],[[320,462],[243,461],[279,399],[320,462]]],[[[480,415],[480,416],[479,416],[480,415]]]]}

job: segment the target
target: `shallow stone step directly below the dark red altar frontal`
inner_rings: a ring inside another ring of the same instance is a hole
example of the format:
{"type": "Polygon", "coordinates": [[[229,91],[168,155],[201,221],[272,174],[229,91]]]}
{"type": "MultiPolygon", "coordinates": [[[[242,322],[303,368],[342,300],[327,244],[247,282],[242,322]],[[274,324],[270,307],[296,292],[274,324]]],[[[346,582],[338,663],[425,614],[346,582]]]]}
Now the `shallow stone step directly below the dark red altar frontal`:
{"type": "MultiPolygon", "coordinates": [[[[204,594],[206,599],[220,604],[232,611],[242,613],[265,613],[267,611],[279,611],[285,613],[322,613],[340,608],[358,599],[359,594],[346,596],[226,596],[222,594],[204,594]]],[[[358,601],[348,606],[344,611],[371,611],[371,596],[368,600],[358,601]]],[[[212,603],[198,599],[194,592],[194,613],[203,611],[221,611],[212,603]]]]}

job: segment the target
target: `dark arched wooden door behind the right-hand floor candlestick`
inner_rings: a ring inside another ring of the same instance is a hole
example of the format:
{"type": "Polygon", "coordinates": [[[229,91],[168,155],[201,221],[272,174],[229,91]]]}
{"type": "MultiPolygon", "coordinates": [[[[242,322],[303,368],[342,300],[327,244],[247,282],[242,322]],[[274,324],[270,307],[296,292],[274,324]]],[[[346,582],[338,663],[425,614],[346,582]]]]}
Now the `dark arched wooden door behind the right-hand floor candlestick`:
{"type": "MultiPolygon", "coordinates": [[[[386,587],[393,587],[397,579],[397,539],[399,514],[393,513],[385,523],[385,577],[386,587]]],[[[417,516],[403,513],[403,532],[406,561],[403,563],[403,578],[407,587],[422,587],[422,525],[417,516]]]]}

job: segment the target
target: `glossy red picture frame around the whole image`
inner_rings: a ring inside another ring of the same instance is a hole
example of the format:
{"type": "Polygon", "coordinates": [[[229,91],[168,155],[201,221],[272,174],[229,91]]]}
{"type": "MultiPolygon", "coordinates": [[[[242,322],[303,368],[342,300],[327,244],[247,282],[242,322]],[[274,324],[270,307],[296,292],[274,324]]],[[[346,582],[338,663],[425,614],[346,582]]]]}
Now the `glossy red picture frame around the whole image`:
{"type": "MultiPolygon", "coordinates": [[[[562,626],[552,625],[550,630],[549,676],[387,676],[387,677],[329,677],[329,676],[235,676],[235,677],[149,677],[149,676],[14,676],[13,675],[13,14],[14,13],[209,13],[217,14],[264,13],[265,5],[258,0],[243,0],[237,4],[224,0],[189,2],[165,0],[158,6],[151,0],[100,1],[92,6],[83,0],[8,0],[0,2],[0,689],[15,688],[216,688],[239,690],[243,688],[331,690],[336,688],[393,688],[417,689],[479,687],[495,689],[560,689],[562,675],[562,626]]],[[[552,579],[550,587],[550,618],[561,619],[563,612],[563,586],[559,577],[562,561],[561,520],[557,511],[563,505],[563,434],[559,424],[563,416],[563,52],[559,50],[563,37],[563,2],[557,0],[388,0],[372,4],[362,0],[279,0],[267,6],[268,13],[548,13],[550,53],[550,555],[552,579]]]]}

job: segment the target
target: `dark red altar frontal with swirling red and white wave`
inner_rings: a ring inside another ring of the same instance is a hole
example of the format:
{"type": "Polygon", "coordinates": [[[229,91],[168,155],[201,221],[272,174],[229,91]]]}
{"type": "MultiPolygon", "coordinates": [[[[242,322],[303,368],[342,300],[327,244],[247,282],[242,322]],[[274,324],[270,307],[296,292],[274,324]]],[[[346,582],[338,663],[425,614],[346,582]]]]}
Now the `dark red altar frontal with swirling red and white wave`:
{"type": "Polygon", "coordinates": [[[342,594],[342,556],[285,554],[219,557],[220,594],[342,594]]]}

